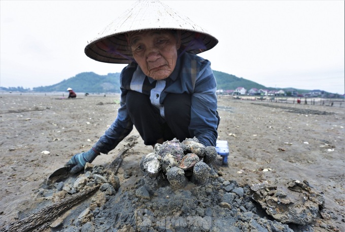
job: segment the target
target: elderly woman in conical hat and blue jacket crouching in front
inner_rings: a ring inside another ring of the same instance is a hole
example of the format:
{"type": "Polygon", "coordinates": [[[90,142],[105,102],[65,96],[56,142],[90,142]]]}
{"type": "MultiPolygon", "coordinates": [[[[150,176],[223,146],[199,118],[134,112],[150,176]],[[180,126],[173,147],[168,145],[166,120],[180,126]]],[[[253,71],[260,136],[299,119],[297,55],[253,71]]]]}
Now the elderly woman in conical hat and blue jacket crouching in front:
{"type": "Polygon", "coordinates": [[[94,146],[67,162],[71,172],[113,150],[133,125],[145,145],[196,137],[205,146],[216,146],[217,84],[210,61],[195,54],[217,43],[160,2],[136,2],[112,22],[85,53],[101,62],[129,63],[120,75],[121,107],[94,146]]]}

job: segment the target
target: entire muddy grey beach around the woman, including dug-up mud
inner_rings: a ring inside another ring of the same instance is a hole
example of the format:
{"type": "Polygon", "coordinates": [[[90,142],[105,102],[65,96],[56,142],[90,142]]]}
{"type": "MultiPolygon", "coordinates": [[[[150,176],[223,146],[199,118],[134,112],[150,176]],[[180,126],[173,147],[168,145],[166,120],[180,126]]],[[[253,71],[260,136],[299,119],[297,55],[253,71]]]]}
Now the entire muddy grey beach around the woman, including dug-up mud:
{"type": "Polygon", "coordinates": [[[116,117],[119,95],[78,96],[0,94],[0,231],[345,231],[344,107],[222,97],[228,167],[217,156],[206,184],[148,188],[140,161],[153,148],[134,129],[48,186],[116,117]],[[56,217],[32,220],[85,190],[56,217]]]}

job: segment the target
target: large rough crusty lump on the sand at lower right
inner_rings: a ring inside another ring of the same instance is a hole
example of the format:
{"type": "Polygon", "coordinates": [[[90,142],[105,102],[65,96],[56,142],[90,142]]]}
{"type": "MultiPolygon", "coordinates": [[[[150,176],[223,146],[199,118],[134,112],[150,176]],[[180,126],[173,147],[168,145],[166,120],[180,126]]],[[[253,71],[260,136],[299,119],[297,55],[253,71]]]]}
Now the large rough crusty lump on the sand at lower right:
{"type": "Polygon", "coordinates": [[[306,180],[275,180],[250,188],[253,200],[282,223],[310,224],[318,218],[325,203],[324,193],[313,189],[306,180]]]}

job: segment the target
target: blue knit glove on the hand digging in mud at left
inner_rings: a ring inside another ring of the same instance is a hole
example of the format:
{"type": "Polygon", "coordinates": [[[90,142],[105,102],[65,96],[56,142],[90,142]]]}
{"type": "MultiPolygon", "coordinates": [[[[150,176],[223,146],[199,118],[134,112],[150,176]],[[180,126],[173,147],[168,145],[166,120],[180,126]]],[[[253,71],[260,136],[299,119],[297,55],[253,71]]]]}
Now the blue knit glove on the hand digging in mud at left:
{"type": "Polygon", "coordinates": [[[65,166],[70,166],[72,168],[70,173],[79,173],[84,169],[86,162],[91,163],[97,155],[99,155],[99,152],[92,148],[87,152],[74,155],[65,166]]]}

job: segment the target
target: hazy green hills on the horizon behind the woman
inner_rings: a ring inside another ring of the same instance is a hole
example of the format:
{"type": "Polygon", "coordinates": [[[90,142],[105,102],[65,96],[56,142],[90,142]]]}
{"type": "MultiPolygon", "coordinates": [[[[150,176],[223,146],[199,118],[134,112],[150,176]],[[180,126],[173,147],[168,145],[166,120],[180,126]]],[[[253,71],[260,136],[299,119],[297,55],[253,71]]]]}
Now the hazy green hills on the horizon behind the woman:
{"type": "MultiPolygon", "coordinates": [[[[237,87],[244,87],[245,89],[250,90],[251,88],[256,89],[267,89],[267,90],[280,90],[282,88],[272,88],[266,87],[256,82],[239,78],[231,74],[213,71],[216,81],[217,81],[217,89],[223,90],[234,90],[237,87]]],[[[66,80],[61,81],[60,83],[50,85],[50,86],[40,86],[34,87],[32,91],[35,92],[64,92],[68,87],[73,88],[76,92],[88,92],[88,93],[106,93],[106,92],[113,92],[119,93],[120,92],[120,73],[109,73],[107,75],[98,75],[93,72],[88,73],[80,73],[75,77],[68,78],[66,80]]],[[[11,87],[11,88],[4,88],[0,87],[0,90],[3,91],[20,91],[20,92],[27,92],[30,89],[23,89],[22,87],[11,87]]],[[[299,93],[306,93],[309,90],[301,90],[295,88],[283,88],[283,90],[296,90],[299,93]]]]}

